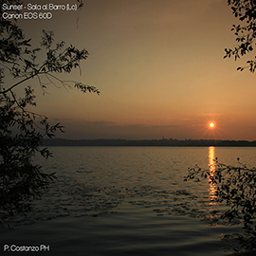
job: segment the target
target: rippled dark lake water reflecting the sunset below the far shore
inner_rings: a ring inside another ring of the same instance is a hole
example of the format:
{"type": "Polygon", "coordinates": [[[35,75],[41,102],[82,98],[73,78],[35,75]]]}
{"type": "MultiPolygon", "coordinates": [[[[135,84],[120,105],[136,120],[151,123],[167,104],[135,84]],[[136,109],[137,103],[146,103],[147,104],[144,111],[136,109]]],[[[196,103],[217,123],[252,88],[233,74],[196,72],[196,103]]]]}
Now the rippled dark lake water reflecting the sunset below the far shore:
{"type": "MultiPolygon", "coordinates": [[[[58,179],[34,212],[1,229],[0,251],[40,248],[35,255],[225,255],[220,236],[241,227],[216,225],[224,206],[208,182],[184,182],[188,167],[241,161],[253,166],[256,148],[52,147],[38,159],[58,179]],[[46,247],[41,247],[46,246],[46,247]],[[49,250],[49,251],[48,251],[49,250]]],[[[228,237],[228,236],[227,236],[228,237]]],[[[232,247],[232,246],[231,246],[232,247]]],[[[1,254],[2,255],[2,254],[1,254]]],[[[19,252],[18,255],[27,255],[19,252]]]]}

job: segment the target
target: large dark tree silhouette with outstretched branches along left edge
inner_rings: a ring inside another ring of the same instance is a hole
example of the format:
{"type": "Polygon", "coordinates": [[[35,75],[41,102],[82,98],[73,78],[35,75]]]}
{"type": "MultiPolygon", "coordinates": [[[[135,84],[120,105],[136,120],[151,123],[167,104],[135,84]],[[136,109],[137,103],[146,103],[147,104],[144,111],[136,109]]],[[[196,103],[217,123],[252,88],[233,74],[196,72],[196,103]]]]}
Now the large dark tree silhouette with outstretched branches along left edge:
{"type": "MultiPolygon", "coordinates": [[[[77,1],[82,7],[82,1],[77,1]]],[[[4,0],[2,4],[21,4],[19,1],[4,0]]],[[[18,12],[18,10],[16,10],[18,12]]],[[[60,123],[50,125],[45,115],[30,109],[36,106],[34,91],[25,86],[25,94],[18,96],[15,89],[32,79],[37,79],[43,92],[50,84],[61,83],[85,92],[100,94],[100,91],[82,82],[63,81],[58,74],[69,74],[80,68],[88,52],[75,46],[65,47],[64,41],[55,42],[52,31],[43,30],[41,46],[32,47],[16,21],[2,18],[0,9],[0,221],[9,214],[26,213],[29,201],[42,194],[55,178],[45,174],[42,167],[32,161],[40,154],[47,158],[51,153],[41,148],[44,137],[54,137],[56,131],[64,132],[60,123]],[[45,54],[44,61],[38,61],[39,52],[45,54]],[[43,82],[42,78],[45,77],[43,82]],[[12,78],[5,82],[6,78],[12,78]],[[9,81],[14,81],[9,83],[9,81]]],[[[34,80],[33,80],[34,81],[34,80]]]]}

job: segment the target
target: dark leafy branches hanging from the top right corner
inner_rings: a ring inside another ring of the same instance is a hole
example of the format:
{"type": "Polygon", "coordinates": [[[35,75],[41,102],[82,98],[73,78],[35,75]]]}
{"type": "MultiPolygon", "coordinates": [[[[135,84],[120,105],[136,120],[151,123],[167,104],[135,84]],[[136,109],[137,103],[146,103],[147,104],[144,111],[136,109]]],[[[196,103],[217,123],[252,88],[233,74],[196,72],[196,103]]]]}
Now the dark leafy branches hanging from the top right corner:
{"type": "MultiPolygon", "coordinates": [[[[233,11],[235,17],[237,17],[242,24],[233,25],[231,28],[236,36],[236,42],[238,46],[226,48],[226,55],[224,58],[234,56],[235,61],[241,56],[251,53],[254,50],[254,41],[256,37],[256,1],[255,0],[228,0],[229,6],[233,11]]],[[[255,59],[255,58],[254,58],[255,59]]],[[[237,70],[243,71],[245,68],[249,68],[249,71],[254,73],[256,68],[256,61],[247,61],[247,66],[239,66],[237,70]]]]}

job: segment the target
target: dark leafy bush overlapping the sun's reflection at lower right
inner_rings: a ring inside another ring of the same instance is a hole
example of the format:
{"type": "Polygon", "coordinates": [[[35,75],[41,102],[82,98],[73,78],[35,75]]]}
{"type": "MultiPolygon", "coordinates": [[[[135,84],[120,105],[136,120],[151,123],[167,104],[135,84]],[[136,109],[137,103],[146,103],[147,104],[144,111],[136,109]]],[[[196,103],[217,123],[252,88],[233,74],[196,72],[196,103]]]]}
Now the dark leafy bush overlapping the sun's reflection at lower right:
{"type": "Polygon", "coordinates": [[[189,174],[184,181],[207,179],[210,184],[217,188],[216,202],[226,203],[229,210],[226,210],[219,217],[229,222],[239,219],[243,222],[245,234],[240,234],[238,239],[241,247],[246,249],[256,248],[256,168],[247,168],[238,160],[238,166],[229,166],[220,163],[216,158],[214,161],[214,172],[209,169],[201,169],[195,165],[189,168],[189,174]]]}

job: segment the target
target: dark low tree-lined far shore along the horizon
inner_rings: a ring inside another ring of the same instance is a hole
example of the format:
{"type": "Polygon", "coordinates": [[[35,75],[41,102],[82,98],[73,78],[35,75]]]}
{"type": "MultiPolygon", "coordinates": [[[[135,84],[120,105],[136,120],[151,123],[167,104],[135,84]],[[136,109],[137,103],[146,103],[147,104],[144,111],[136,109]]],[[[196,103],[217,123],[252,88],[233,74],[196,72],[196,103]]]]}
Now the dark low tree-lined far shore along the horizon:
{"type": "Polygon", "coordinates": [[[66,138],[46,138],[42,142],[43,146],[63,146],[63,147],[256,147],[256,140],[218,140],[218,139],[66,139],[66,138]]]}

